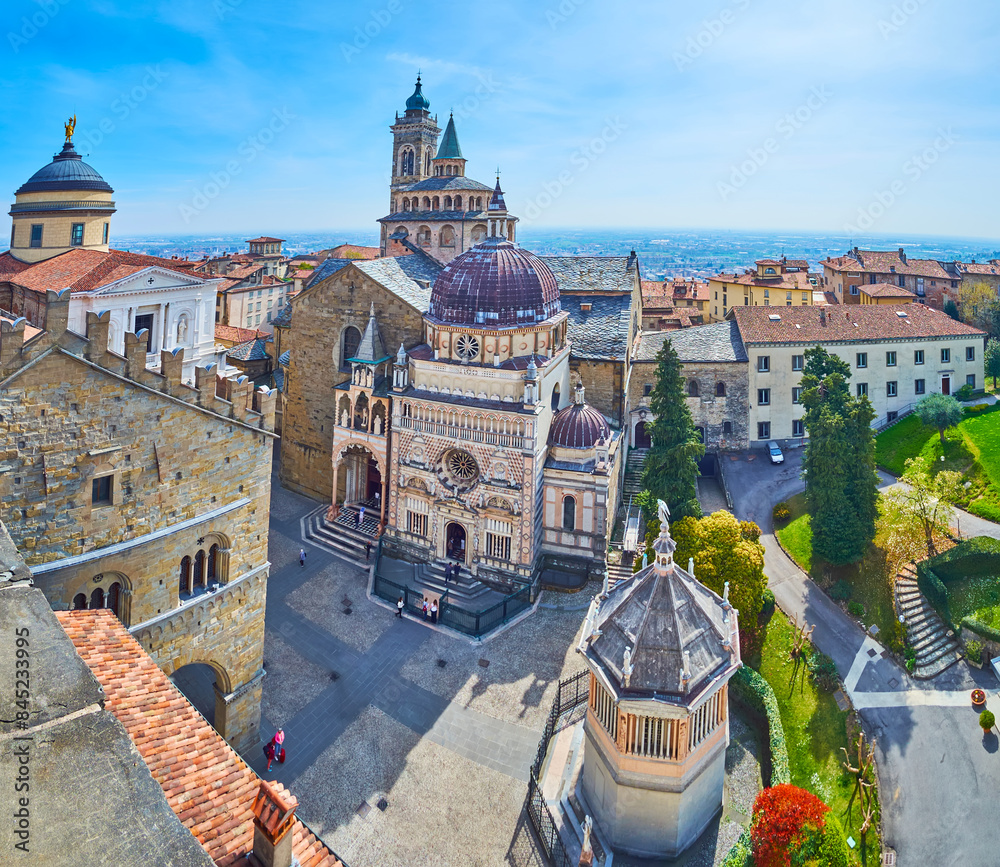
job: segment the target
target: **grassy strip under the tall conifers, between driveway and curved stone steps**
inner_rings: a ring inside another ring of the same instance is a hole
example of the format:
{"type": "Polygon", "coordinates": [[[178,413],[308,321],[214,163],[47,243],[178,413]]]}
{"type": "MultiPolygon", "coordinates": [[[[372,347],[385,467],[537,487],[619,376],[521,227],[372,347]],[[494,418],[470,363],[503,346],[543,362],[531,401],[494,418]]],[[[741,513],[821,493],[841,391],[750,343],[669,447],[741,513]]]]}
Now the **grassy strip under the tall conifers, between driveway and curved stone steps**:
{"type": "Polygon", "coordinates": [[[868,552],[860,563],[830,566],[813,557],[812,528],[806,512],[805,494],[792,497],[788,501],[788,507],[791,517],[775,534],[789,556],[827,593],[838,588],[840,595],[843,595],[844,588],[848,588],[849,601],[859,602],[864,606],[865,613],[861,617],[864,624],[877,624],[883,635],[893,635],[896,615],[892,607],[889,583],[892,576],[887,574],[882,552],[874,545],[869,545],[868,552]]]}

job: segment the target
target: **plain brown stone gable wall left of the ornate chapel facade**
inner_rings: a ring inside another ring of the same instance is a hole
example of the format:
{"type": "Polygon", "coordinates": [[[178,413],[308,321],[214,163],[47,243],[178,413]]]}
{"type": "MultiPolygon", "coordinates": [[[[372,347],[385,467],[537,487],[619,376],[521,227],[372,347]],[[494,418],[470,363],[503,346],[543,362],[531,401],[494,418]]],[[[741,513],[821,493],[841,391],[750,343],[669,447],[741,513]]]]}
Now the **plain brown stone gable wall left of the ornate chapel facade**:
{"type": "Polygon", "coordinates": [[[421,312],[354,266],[309,287],[292,300],[291,348],[282,417],[281,483],[330,501],[333,495],[334,387],[350,379],[340,370],[341,337],[348,325],[364,333],[375,303],[386,351],[423,343],[421,312]]]}

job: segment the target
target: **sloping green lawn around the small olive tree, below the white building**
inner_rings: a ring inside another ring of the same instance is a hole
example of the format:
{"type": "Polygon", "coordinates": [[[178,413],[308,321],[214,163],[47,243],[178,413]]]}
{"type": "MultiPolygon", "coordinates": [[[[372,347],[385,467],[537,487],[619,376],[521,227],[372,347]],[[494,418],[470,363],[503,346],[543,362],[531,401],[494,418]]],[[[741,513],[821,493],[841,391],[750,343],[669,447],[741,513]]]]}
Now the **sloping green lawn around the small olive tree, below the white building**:
{"type": "Polygon", "coordinates": [[[937,430],[921,424],[916,415],[878,435],[875,460],[879,466],[898,476],[907,458],[920,458],[935,472],[962,473],[963,481],[969,482],[969,493],[959,505],[981,518],[1000,522],[1000,404],[966,411],[965,418],[945,432],[944,443],[937,430]]]}

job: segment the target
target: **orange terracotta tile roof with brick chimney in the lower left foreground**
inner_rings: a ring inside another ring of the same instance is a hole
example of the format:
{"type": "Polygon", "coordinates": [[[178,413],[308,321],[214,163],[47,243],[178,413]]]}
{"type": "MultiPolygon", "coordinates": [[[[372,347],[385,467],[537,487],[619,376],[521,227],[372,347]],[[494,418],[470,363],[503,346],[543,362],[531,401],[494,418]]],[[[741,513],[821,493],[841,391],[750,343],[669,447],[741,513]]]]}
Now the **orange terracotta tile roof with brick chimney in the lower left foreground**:
{"type": "MultiPolygon", "coordinates": [[[[167,802],[218,867],[245,864],[253,849],[260,778],[208,724],[122,626],[104,611],[58,611],[77,653],[107,695],[167,802]]],[[[294,798],[278,783],[285,802],[294,798]]],[[[302,867],[343,867],[294,820],[293,851],[302,867]]]]}

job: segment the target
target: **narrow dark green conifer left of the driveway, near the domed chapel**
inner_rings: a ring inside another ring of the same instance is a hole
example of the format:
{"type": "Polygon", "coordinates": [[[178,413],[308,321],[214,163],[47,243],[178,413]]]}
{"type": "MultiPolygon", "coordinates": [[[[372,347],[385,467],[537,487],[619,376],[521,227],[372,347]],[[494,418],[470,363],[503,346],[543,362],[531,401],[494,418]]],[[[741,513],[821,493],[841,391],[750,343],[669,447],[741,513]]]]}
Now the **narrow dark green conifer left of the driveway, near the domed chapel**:
{"type": "Polygon", "coordinates": [[[698,459],[705,454],[705,445],[684,398],[681,360],[670,341],[664,340],[656,356],[656,385],[649,397],[653,446],[643,464],[642,485],[654,500],[667,504],[674,518],[701,515],[698,459]]]}

